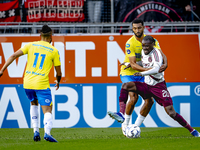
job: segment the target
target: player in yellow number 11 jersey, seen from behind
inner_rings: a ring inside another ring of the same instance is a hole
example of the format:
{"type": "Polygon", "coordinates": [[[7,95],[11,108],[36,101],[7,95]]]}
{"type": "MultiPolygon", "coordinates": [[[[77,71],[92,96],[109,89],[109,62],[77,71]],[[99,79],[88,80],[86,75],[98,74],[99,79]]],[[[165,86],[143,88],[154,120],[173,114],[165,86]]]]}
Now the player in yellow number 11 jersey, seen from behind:
{"type": "Polygon", "coordinates": [[[50,134],[52,129],[52,96],[49,84],[49,72],[54,65],[56,70],[56,90],[61,80],[61,62],[58,50],[50,43],[52,30],[44,25],[41,31],[41,41],[30,42],[11,55],[0,70],[0,77],[4,70],[18,57],[27,54],[27,65],[24,74],[23,86],[28,99],[31,101],[31,122],[34,128],[34,141],[40,141],[38,126],[38,103],[44,113],[44,139],[57,142],[50,134]]]}

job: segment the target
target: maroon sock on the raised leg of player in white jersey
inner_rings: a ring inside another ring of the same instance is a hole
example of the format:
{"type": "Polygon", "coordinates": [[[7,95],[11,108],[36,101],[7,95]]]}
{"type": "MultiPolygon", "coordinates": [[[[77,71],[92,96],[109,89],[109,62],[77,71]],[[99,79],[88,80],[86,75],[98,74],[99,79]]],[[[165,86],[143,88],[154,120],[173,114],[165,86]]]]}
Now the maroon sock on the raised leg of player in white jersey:
{"type": "Polygon", "coordinates": [[[121,89],[120,96],[119,96],[119,106],[120,106],[120,110],[119,111],[122,114],[125,113],[127,100],[128,100],[128,91],[125,90],[125,89],[121,89]]]}

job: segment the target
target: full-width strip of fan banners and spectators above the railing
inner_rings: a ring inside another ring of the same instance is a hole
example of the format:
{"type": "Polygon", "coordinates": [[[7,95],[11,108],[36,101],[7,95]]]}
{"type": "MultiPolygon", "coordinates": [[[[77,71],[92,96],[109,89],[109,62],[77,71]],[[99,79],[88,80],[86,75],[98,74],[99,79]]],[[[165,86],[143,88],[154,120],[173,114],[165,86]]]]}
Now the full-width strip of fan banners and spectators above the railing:
{"type": "Polygon", "coordinates": [[[0,22],[200,21],[199,7],[199,0],[1,0],[0,22]]]}

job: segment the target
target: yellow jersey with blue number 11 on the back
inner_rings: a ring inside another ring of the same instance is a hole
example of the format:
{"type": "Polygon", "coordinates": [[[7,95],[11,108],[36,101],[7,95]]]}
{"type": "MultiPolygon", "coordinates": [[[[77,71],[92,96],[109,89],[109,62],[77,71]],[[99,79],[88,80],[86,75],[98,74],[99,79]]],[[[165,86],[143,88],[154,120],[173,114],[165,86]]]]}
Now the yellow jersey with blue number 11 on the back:
{"type": "Polygon", "coordinates": [[[61,65],[58,50],[46,41],[30,42],[20,50],[28,54],[24,88],[35,90],[50,88],[49,72],[52,65],[61,65]]]}

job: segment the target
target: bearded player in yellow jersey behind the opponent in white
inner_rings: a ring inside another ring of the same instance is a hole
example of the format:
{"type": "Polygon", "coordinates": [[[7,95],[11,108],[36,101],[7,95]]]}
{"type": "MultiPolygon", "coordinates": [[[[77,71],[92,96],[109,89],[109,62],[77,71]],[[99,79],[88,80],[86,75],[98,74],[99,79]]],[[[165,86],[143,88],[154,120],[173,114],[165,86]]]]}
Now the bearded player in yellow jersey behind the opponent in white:
{"type": "MultiPolygon", "coordinates": [[[[124,63],[122,63],[121,71],[120,71],[120,78],[122,83],[126,82],[133,82],[133,81],[140,81],[144,82],[144,77],[141,76],[133,76],[134,73],[140,72],[140,71],[146,71],[148,68],[143,68],[141,66],[141,51],[142,51],[142,39],[146,36],[144,34],[144,22],[141,19],[135,19],[132,22],[132,29],[134,32],[134,35],[126,42],[126,55],[124,63]]],[[[156,40],[155,47],[161,51],[161,48],[159,46],[158,41],[156,40]]],[[[167,68],[167,58],[161,51],[161,54],[163,56],[163,65],[160,68],[160,72],[164,71],[167,68]]],[[[120,93],[124,93],[127,91],[124,91],[121,89],[120,93]]],[[[128,95],[128,94],[120,94],[120,95],[128,95]]],[[[135,107],[135,104],[138,101],[138,94],[134,92],[129,92],[130,100],[128,104],[126,105],[126,102],[128,100],[128,97],[122,98],[119,97],[119,105],[120,105],[120,111],[119,112],[108,112],[108,115],[118,122],[123,123],[122,124],[122,131],[124,133],[124,129],[129,124],[130,116],[133,112],[133,109],[135,107]],[[126,101],[124,101],[126,99],[126,101]]],[[[140,114],[138,115],[135,124],[140,126],[142,122],[144,121],[145,117],[148,115],[154,101],[153,99],[146,99],[141,110],[140,114]]]]}

